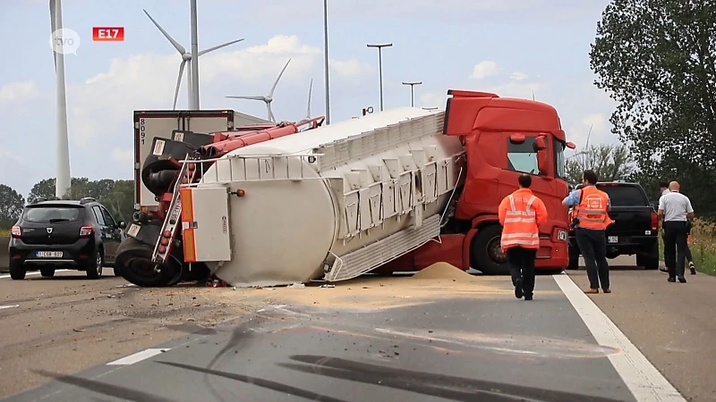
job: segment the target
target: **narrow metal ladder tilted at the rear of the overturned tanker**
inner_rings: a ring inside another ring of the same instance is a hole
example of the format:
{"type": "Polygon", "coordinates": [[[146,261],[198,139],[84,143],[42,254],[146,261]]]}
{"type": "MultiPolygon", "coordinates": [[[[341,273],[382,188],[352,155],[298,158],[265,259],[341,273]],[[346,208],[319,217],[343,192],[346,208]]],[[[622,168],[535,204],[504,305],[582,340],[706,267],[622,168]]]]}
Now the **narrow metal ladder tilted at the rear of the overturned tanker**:
{"type": "MultiPolygon", "coordinates": [[[[185,160],[190,161],[196,158],[192,158],[189,154],[186,155],[185,160]]],[[[199,170],[196,168],[196,163],[184,162],[182,163],[182,169],[179,170],[179,175],[174,185],[174,192],[172,193],[172,202],[169,204],[169,210],[162,223],[162,230],[157,244],[154,246],[151,259],[157,264],[154,268],[155,271],[159,271],[159,264],[163,264],[166,261],[167,256],[172,251],[174,241],[176,239],[177,228],[181,226],[182,216],[182,202],[179,196],[179,189],[182,184],[190,184],[196,180],[196,173],[199,170]]]]}

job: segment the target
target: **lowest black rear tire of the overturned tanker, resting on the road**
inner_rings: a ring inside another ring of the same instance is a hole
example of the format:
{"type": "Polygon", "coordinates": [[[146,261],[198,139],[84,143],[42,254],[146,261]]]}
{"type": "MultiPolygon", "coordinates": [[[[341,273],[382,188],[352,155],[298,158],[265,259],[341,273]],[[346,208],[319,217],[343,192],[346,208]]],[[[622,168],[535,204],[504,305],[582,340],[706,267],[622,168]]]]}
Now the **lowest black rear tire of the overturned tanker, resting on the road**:
{"type": "Polygon", "coordinates": [[[156,272],[155,264],[151,262],[152,251],[152,247],[137,239],[124,239],[117,248],[115,267],[119,268],[125,280],[142,288],[163,288],[176,284],[175,277],[181,275],[181,268],[177,270],[175,264],[164,264],[160,272],[156,272]]]}

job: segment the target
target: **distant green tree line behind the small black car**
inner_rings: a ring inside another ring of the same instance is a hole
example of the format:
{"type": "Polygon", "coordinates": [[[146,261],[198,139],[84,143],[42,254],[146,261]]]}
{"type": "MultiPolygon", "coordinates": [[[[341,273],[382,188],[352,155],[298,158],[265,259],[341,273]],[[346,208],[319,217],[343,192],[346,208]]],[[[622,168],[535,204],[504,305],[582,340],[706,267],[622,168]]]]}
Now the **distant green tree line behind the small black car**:
{"type": "MultiPolygon", "coordinates": [[[[134,211],[134,180],[72,178],[72,191],[67,198],[81,197],[96,198],[117,221],[129,222],[134,211]]],[[[55,198],[55,179],[38,181],[27,197],[0,184],[0,230],[10,229],[22,214],[22,208],[37,198],[55,198]]]]}

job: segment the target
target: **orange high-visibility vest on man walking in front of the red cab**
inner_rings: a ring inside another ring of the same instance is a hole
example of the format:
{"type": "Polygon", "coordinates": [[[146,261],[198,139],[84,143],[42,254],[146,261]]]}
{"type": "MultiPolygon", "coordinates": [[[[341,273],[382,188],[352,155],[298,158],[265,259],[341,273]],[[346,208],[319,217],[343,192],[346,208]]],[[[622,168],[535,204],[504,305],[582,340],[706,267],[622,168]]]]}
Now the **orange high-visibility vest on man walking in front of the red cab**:
{"type": "Polygon", "coordinates": [[[540,248],[540,230],[537,226],[537,213],[533,204],[539,198],[530,193],[517,190],[507,196],[509,206],[502,224],[500,245],[503,250],[509,247],[540,248]],[[521,192],[522,194],[516,194],[521,192]],[[529,195],[529,197],[524,197],[529,195]]]}

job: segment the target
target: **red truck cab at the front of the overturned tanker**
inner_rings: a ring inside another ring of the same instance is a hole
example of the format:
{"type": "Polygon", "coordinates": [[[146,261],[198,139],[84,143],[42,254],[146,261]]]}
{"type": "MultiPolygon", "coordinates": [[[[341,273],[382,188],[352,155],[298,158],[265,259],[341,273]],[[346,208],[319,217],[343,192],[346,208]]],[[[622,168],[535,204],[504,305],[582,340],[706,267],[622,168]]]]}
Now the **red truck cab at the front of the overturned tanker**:
{"type": "Polygon", "coordinates": [[[540,227],[535,267],[555,272],[567,268],[564,151],[575,146],[567,142],[555,108],[485,92],[449,90],[447,95],[452,97],[447,99],[444,134],[461,139],[467,167],[458,183],[456,204],[448,205],[454,212],[444,219],[439,241],[397,258],[379,272],[416,271],[444,261],[463,270],[507,274],[498,206],[517,189],[523,173],[533,175],[533,193],[549,213],[540,227]]]}

